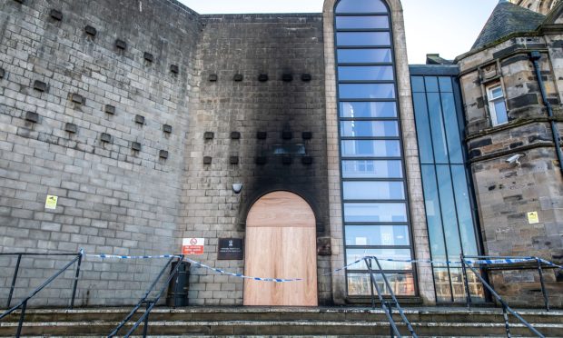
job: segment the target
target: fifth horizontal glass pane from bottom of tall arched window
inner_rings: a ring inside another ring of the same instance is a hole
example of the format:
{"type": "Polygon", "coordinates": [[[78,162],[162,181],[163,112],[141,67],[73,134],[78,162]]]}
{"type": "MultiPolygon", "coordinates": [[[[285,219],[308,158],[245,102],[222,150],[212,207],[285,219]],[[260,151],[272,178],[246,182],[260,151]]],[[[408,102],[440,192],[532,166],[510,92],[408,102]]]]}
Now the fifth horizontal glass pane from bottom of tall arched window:
{"type": "Polygon", "coordinates": [[[345,200],[404,200],[402,182],[344,182],[345,200]]]}

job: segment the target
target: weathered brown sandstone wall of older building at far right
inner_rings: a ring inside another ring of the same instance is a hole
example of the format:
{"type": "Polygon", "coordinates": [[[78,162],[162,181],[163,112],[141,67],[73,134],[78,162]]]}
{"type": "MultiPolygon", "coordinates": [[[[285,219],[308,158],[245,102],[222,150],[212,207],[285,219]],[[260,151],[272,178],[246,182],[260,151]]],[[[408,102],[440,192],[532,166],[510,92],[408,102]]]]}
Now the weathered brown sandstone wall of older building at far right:
{"type": "MultiPolygon", "coordinates": [[[[558,55],[546,53],[548,47],[544,36],[517,37],[464,55],[459,66],[485,254],[534,255],[561,263],[563,178],[538,78],[529,61],[530,51],[542,51],[542,79],[561,131],[558,69],[552,66],[560,60],[558,55]],[[505,93],[509,123],[492,126],[486,86],[496,82],[505,93]],[[521,165],[506,162],[513,154],[525,154],[519,160],[521,165]],[[538,212],[538,224],[528,222],[529,212],[538,212]]],[[[537,271],[491,273],[490,277],[509,303],[543,303],[537,271]]],[[[561,306],[560,274],[550,271],[546,278],[551,303],[561,306]]]]}

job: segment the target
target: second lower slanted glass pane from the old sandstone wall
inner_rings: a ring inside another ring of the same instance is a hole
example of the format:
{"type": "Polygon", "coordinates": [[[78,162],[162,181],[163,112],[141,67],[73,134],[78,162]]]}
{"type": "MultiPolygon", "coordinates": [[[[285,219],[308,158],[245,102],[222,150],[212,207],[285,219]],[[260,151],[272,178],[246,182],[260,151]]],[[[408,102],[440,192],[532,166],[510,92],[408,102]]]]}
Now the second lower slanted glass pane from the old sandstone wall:
{"type": "Polygon", "coordinates": [[[459,258],[459,254],[461,254],[461,244],[459,244],[458,216],[456,214],[449,165],[436,165],[436,176],[438,177],[442,222],[444,224],[444,235],[446,236],[449,260],[456,260],[459,258]]]}

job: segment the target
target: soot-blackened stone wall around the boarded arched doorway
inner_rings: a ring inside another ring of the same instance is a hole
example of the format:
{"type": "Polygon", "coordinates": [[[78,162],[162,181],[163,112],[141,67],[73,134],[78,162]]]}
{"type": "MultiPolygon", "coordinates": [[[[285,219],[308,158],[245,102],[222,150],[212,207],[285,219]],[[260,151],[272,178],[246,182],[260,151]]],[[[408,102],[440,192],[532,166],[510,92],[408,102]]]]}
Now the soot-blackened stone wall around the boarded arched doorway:
{"type": "MultiPolygon", "coordinates": [[[[244,261],[216,261],[217,238],[244,238],[246,214],[263,194],[300,194],[318,237],[329,234],[322,16],[206,15],[202,25],[182,235],[206,238],[203,262],[242,273],[244,261]],[[273,154],[276,145],[296,144],[306,154],[273,154]],[[241,194],[233,183],[242,183],[241,194]]],[[[318,266],[330,271],[330,256],[319,256],[318,266]]],[[[242,304],[241,279],[198,269],[190,285],[193,303],[242,304]]],[[[319,277],[319,298],[331,301],[329,277],[319,277]]]]}

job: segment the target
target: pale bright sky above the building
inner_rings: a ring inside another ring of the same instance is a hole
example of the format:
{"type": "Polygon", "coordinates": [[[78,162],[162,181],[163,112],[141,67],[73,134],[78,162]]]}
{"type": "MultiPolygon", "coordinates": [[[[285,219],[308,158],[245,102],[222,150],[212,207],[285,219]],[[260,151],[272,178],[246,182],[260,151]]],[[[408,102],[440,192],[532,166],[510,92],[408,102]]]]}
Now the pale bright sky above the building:
{"type": "MultiPolygon", "coordinates": [[[[323,0],[178,0],[199,14],[321,13],[323,0]]],[[[410,64],[468,52],[499,0],[401,0],[410,64]]]]}

